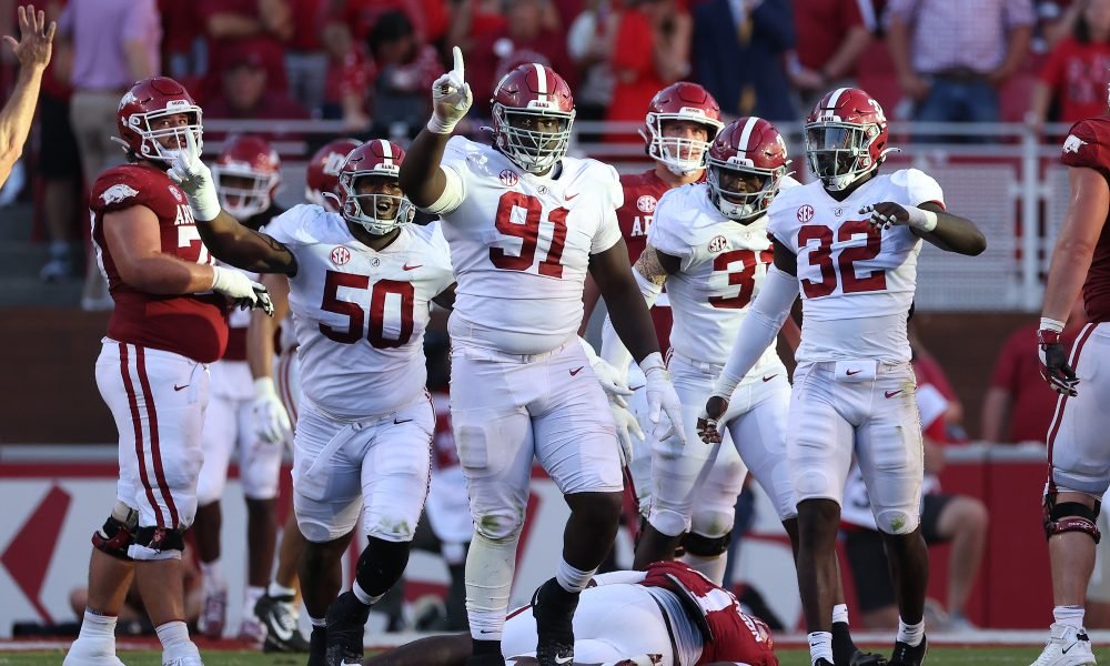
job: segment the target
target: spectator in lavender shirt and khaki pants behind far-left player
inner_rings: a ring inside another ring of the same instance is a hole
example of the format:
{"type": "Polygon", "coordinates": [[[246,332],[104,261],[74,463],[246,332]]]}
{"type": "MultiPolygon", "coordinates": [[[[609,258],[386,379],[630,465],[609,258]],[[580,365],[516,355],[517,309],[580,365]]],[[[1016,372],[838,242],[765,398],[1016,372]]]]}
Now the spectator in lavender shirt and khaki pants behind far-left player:
{"type": "MultiPolygon", "coordinates": [[[[112,141],[115,110],[131,83],[161,71],[161,19],[154,0],[70,0],[58,28],[73,49],[70,122],[91,189],[97,176],[127,157],[112,141]]],[[[91,254],[81,307],[112,309],[108,282],[91,254]]]]}

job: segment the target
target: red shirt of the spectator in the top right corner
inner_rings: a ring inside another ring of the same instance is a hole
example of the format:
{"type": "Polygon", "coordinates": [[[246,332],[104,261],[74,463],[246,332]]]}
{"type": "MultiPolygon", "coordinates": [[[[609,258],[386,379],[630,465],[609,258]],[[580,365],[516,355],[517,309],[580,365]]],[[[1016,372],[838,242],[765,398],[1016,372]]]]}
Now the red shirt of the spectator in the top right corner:
{"type": "Polygon", "coordinates": [[[1100,115],[1106,111],[1110,83],[1110,44],[1084,44],[1069,37],[1048,54],[1040,80],[1052,90],[1060,122],[1100,115]]]}

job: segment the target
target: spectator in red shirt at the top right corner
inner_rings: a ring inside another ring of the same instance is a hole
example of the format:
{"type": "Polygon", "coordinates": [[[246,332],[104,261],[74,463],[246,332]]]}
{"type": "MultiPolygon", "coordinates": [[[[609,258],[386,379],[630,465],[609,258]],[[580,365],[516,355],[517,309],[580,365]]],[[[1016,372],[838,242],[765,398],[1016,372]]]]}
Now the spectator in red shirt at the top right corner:
{"type": "Polygon", "coordinates": [[[1056,107],[1054,120],[1076,123],[1100,115],[1110,83],[1110,0],[1089,0],[1041,68],[1027,122],[1038,132],[1056,107]]]}

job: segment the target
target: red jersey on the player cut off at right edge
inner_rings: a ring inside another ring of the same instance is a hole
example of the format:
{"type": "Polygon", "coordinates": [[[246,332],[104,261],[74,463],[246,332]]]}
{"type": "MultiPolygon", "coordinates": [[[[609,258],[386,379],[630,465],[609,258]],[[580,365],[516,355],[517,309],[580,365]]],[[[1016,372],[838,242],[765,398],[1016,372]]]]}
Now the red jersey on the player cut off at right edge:
{"type": "MultiPolygon", "coordinates": [[[[1110,117],[1088,118],[1072,125],[1060,161],[1093,169],[1110,181],[1110,117]]],[[[1110,225],[1106,222],[1083,283],[1083,305],[1088,321],[1110,321],[1110,225]]]]}

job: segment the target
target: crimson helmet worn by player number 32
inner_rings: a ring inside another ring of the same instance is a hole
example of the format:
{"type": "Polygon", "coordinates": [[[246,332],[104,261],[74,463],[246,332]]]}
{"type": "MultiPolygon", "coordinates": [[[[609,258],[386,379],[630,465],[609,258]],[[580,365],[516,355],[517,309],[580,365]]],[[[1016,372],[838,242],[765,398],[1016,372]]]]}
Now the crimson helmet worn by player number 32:
{"type": "Polygon", "coordinates": [[[887,117],[858,88],[837,88],[806,118],[806,157],[825,189],[837,192],[879,168],[888,152],[887,117]]]}

